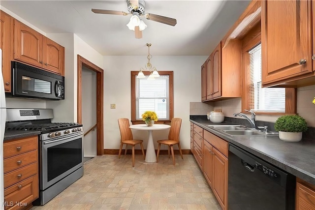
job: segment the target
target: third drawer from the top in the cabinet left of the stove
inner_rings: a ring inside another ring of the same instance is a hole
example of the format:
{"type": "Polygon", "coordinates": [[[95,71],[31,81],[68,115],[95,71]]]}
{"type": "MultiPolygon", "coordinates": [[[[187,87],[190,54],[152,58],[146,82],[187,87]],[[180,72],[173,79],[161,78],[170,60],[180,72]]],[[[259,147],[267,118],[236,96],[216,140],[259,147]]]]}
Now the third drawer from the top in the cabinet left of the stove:
{"type": "Polygon", "coordinates": [[[37,174],[37,163],[32,163],[10,173],[4,174],[4,188],[37,174]]]}

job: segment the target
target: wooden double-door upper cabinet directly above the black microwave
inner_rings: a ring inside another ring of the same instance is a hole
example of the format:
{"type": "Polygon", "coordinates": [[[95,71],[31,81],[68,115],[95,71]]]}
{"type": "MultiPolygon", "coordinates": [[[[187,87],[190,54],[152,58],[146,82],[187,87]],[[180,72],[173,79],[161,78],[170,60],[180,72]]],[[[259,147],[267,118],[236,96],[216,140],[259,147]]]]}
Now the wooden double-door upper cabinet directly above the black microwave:
{"type": "Polygon", "coordinates": [[[64,75],[64,47],[14,20],[14,60],[64,75]]]}

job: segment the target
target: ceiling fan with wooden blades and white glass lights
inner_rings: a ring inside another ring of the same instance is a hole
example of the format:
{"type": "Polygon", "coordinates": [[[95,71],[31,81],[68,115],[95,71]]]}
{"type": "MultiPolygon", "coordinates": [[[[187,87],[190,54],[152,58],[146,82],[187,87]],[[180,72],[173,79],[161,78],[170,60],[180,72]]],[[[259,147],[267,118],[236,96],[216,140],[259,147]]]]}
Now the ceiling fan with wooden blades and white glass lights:
{"type": "Polygon", "coordinates": [[[127,24],[127,27],[130,30],[134,30],[134,34],[137,39],[142,38],[142,30],[147,28],[147,25],[140,19],[140,17],[145,17],[148,20],[156,21],[170,26],[176,25],[177,22],[174,18],[164,17],[152,13],[145,13],[145,5],[146,4],[144,0],[127,0],[128,12],[104,9],[92,9],[92,12],[109,15],[132,15],[130,18],[130,22],[127,24]]]}

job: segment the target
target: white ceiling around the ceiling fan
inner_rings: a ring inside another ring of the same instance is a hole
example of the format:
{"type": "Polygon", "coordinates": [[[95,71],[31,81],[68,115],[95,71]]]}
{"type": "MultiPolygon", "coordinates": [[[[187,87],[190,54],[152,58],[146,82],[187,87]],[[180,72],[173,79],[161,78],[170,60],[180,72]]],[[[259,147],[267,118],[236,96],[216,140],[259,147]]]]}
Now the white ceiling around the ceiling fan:
{"type": "Polygon", "coordinates": [[[141,18],[148,26],[136,39],[131,16],[95,14],[94,9],[127,12],[126,0],[0,0],[1,7],[46,33],[75,33],[104,56],[207,56],[250,0],[145,0],[146,12],[175,18],[172,27],[141,18]]]}

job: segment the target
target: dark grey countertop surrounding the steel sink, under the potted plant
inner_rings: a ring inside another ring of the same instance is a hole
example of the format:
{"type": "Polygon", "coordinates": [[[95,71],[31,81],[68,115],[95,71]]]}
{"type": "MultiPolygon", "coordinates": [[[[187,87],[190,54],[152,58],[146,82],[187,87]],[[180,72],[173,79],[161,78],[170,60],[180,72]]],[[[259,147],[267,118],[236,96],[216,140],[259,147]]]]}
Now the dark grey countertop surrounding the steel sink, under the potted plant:
{"type": "Polygon", "coordinates": [[[302,139],[291,143],[280,140],[278,136],[229,136],[207,125],[233,124],[231,122],[212,123],[203,119],[190,121],[284,171],[315,184],[315,141],[302,139]]]}

